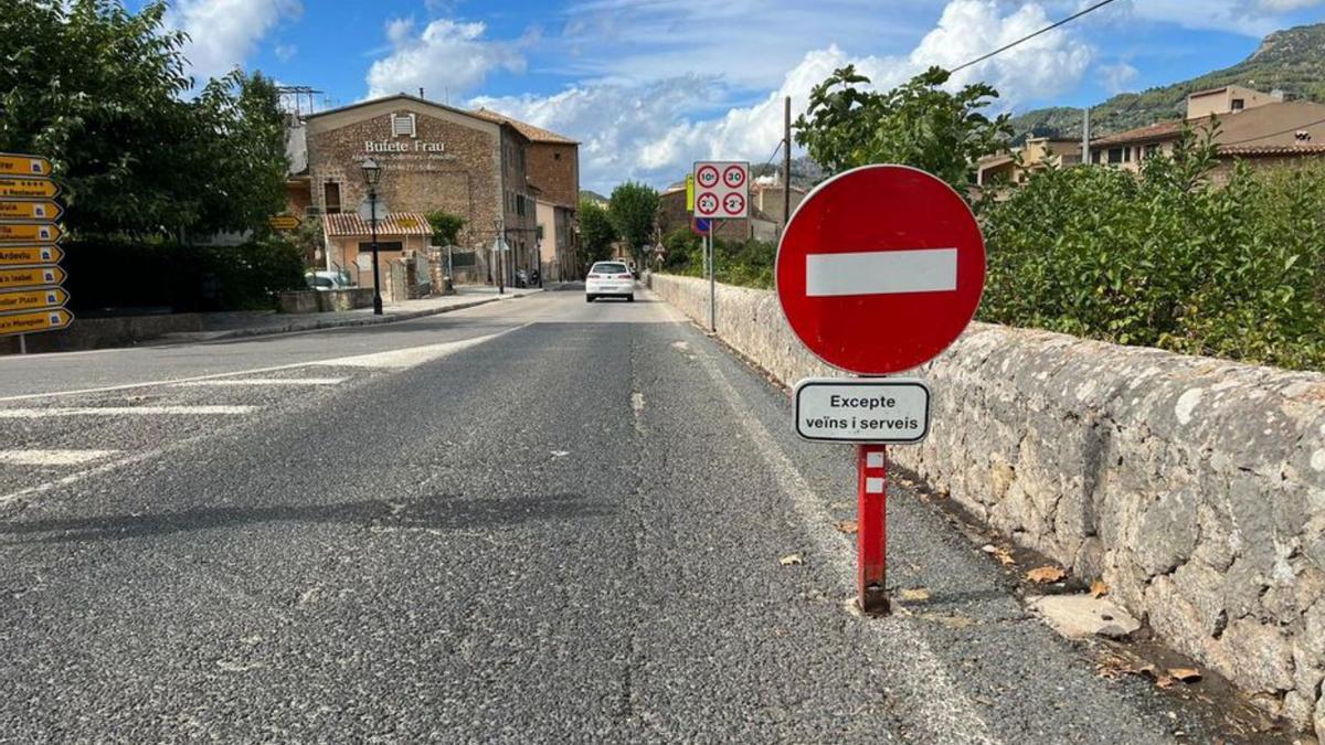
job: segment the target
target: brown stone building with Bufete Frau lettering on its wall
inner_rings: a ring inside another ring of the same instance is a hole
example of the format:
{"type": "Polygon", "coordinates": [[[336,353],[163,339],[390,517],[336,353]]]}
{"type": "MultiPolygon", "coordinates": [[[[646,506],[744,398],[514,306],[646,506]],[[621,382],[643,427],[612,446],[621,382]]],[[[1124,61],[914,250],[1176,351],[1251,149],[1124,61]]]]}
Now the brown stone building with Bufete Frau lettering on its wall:
{"type": "MultiPolygon", "coordinates": [[[[289,182],[290,208],[307,216],[355,213],[367,198],[362,164],[371,156],[382,166],[379,204],[386,203],[384,220],[412,224],[415,216],[435,211],[465,219],[456,256],[457,274],[468,270],[472,281],[493,281],[498,235],[509,251],[504,255],[507,284],[517,269],[538,265],[538,209],[530,178],[534,141],[513,121],[496,121],[450,106],[399,94],[366,101],[305,117],[302,133],[292,142],[306,148],[306,168],[289,182]]],[[[553,135],[553,133],[547,133],[553,135]]],[[[559,137],[559,135],[555,135],[559,137]]],[[[564,139],[564,138],[562,138],[564,139]]],[[[558,143],[568,150],[551,162],[567,160],[571,183],[578,188],[578,146],[558,143]],[[567,155],[568,152],[568,155],[567,155]]],[[[556,179],[549,179],[559,188],[556,179]]],[[[362,221],[337,221],[337,233],[355,229],[362,221]]],[[[358,252],[367,236],[337,235],[327,243],[326,264],[343,269],[359,262],[358,252]]],[[[380,239],[380,236],[379,236],[380,239]]],[[[400,258],[427,248],[411,248],[401,241],[400,258]]],[[[371,284],[360,277],[360,284],[371,284]]]]}

